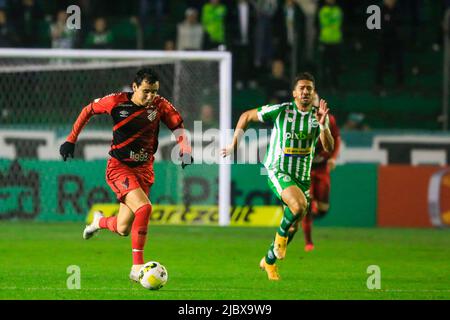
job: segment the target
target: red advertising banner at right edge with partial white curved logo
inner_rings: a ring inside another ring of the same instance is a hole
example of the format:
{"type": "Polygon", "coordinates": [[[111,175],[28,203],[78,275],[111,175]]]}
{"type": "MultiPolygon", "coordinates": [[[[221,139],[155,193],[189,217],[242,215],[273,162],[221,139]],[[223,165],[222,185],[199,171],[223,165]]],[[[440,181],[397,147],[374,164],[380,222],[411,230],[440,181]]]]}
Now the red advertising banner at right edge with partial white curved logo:
{"type": "Polygon", "coordinates": [[[382,227],[450,226],[450,168],[380,166],[377,224],[382,227]]]}

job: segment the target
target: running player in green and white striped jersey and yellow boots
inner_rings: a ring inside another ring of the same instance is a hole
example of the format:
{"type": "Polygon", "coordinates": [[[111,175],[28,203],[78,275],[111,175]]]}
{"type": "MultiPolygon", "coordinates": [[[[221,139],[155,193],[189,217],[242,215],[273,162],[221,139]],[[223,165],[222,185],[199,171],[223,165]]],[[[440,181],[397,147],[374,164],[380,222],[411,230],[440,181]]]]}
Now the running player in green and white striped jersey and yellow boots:
{"type": "Polygon", "coordinates": [[[314,77],[307,72],[301,73],[294,81],[293,101],[244,112],[236,125],[232,143],[222,149],[224,157],[236,150],[250,122],[273,123],[264,166],[270,188],[283,202],[284,214],[275,240],[260,262],[269,280],[280,279],[275,261],[284,259],[289,228],[308,210],[311,164],[318,139],[325,151],[330,152],[334,148],[328,127],[327,103],[322,99],[318,108],[313,107],[314,95],[314,77]]]}

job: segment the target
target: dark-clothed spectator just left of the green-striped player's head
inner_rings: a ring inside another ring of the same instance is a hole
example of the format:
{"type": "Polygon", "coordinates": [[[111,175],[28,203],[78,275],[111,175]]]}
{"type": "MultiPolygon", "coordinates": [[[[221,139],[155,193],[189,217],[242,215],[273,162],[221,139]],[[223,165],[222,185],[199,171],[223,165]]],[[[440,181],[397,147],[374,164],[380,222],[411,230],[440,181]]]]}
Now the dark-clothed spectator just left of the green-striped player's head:
{"type": "Polygon", "coordinates": [[[269,103],[283,103],[292,99],[290,81],[285,75],[283,60],[274,60],[272,62],[272,73],[264,81],[263,87],[269,95],[269,103]]]}

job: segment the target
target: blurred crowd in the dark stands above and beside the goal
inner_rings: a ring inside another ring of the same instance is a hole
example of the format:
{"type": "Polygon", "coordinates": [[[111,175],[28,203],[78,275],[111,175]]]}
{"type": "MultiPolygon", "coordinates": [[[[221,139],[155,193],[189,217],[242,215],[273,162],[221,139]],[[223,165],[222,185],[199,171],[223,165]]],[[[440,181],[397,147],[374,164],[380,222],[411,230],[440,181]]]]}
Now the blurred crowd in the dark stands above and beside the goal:
{"type": "Polygon", "coordinates": [[[388,72],[403,88],[405,45],[419,42],[423,21],[436,22],[431,45],[441,49],[450,0],[0,0],[0,47],[229,50],[235,87],[264,88],[275,103],[289,99],[299,70],[317,74],[330,92],[345,88],[346,53],[364,50],[371,4],[381,7],[371,50],[378,56],[372,87],[382,96],[388,72]],[[422,10],[427,1],[434,10],[422,10]],[[80,30],[66,24],[73,4],[80,30]]]}

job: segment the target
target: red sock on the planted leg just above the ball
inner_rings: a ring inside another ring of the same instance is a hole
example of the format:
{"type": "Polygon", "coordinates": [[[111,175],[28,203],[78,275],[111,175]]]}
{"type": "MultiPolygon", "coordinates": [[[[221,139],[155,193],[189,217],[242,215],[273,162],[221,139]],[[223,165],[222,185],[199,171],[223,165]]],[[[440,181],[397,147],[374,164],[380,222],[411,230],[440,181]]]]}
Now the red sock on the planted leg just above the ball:
{"type": "Polygon", "coordinates": [[[133,264],[144,264],[144,246],[147,241],[147,228],[151,213],[151,204],[143,205],[134,213],[134,221],[131,226],[133,264]]]}

